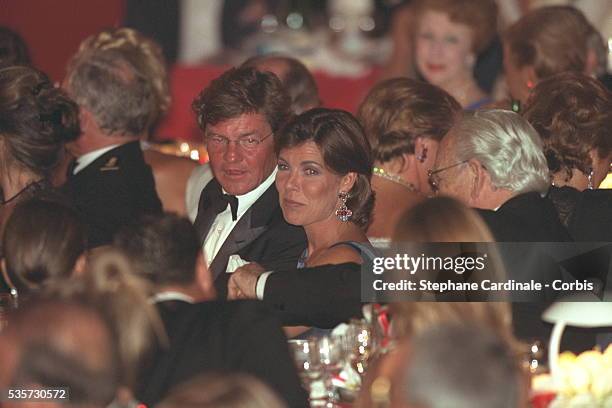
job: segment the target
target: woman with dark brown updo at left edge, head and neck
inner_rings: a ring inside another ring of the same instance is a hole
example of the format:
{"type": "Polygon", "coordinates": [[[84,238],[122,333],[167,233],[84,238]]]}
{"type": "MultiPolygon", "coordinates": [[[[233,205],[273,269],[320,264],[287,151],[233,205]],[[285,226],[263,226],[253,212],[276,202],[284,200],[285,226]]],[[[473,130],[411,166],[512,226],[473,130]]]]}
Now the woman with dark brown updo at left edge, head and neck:
{"type": "Polygon", "coordinates": [[[77,105],[29,67],[0,70],[0,226],[26,198],[66,198],[49,182],[64,143],[80,134],[77,105]]]}

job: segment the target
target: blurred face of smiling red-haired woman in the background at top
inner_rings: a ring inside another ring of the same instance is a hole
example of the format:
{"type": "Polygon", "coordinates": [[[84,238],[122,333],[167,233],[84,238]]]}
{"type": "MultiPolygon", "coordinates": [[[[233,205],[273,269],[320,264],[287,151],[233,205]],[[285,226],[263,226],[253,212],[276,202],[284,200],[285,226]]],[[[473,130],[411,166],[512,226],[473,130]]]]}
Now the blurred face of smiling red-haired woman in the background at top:
{"type": "Polygon", "coordinates": [[[416,62],[427,82],[444,87],[472,75],[472,29],[453,23],[447,14],[421,14],[416,32],[416,62]]]}

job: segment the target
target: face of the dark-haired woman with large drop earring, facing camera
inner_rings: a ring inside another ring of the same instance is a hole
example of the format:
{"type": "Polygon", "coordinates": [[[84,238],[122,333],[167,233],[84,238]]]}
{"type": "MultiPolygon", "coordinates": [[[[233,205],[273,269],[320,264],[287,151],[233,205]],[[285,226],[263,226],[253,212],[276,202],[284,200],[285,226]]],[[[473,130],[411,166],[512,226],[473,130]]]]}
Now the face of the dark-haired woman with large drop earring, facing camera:
{"type": "Polygon", "coordinates": [[[276,188],[285,220],[307,226],[335,217],[338,193],[352,187],[347,179],[325,166],[314,142],[281,150],[276,188]]]}

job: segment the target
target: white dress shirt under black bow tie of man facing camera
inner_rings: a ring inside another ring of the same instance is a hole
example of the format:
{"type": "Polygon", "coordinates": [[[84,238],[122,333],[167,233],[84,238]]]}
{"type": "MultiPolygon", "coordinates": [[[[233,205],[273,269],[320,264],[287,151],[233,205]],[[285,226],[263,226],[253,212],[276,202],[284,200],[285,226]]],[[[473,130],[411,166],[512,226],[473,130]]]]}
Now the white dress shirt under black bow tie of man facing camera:
{"type": "MultiPolygon", "coordinates": [[[[223,210],[221,213],[217,215],[215,221],[212,223],[210,230],[208,231],[208,235],[206,235],[206,239],[204,240],[204,258],[206,259],[206,263],[208,266],[212,263],[213,259],[219,252],[219,249],[223,246],[223,243],[229,236],[230,232],[234,229],[240,218],[247,212],[249,208],[263,195],[263,193],[274,183],[274,179],[276,177],[276,168],[263,183],[261,183],[254,190],[249,191],[246,194],[241,196],[236,196],[238,198],[238,211],[236,221],[232,220],[232,211],[228,204],[227,208],[223,210]]],[[[227,194],[225,190],[224,194],[227,194]]]]}

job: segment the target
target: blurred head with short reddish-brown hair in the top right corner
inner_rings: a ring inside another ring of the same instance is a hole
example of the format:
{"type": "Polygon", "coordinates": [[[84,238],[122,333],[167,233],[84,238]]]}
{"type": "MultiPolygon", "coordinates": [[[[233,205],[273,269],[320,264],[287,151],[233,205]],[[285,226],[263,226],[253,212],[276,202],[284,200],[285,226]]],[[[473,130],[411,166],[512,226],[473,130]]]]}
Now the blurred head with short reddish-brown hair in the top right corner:
{"type": "Polygon", "coordinates": [[[531,89],[562,72],[594,75],[596,49],[603,40],[584,14],[570,6],[541,7],[510,26],[503,36],[504,71],[512,110],[518,112],[531,89]]]}

